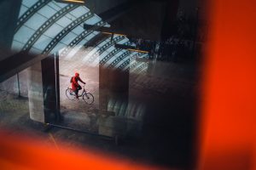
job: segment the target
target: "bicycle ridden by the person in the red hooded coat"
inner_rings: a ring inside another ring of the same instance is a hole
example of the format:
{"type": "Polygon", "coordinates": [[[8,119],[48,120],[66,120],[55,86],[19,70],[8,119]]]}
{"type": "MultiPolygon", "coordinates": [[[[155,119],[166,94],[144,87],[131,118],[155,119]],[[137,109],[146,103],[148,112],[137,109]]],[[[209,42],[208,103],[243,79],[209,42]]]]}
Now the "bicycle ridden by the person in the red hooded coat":
{"type": "MultiPolygon", "coordinates": [[[[83,88],[84,88],[85,85],[83,85],[83,88]]],[[[76,99],[76,94],[75,92],[73,91],[72,88],[68,87],[66,89],[66,95],[67,95],[67,99],[76,99]]],[[[87,103],[87,104],[92,104],[94,102],[94,96],[92,94],[89,93],[89,91],[86,91],[85,88],[82,92],[81,95],[79,95],[79,98],[83,96],[83,99],[84,101],[87,103]]]]}

